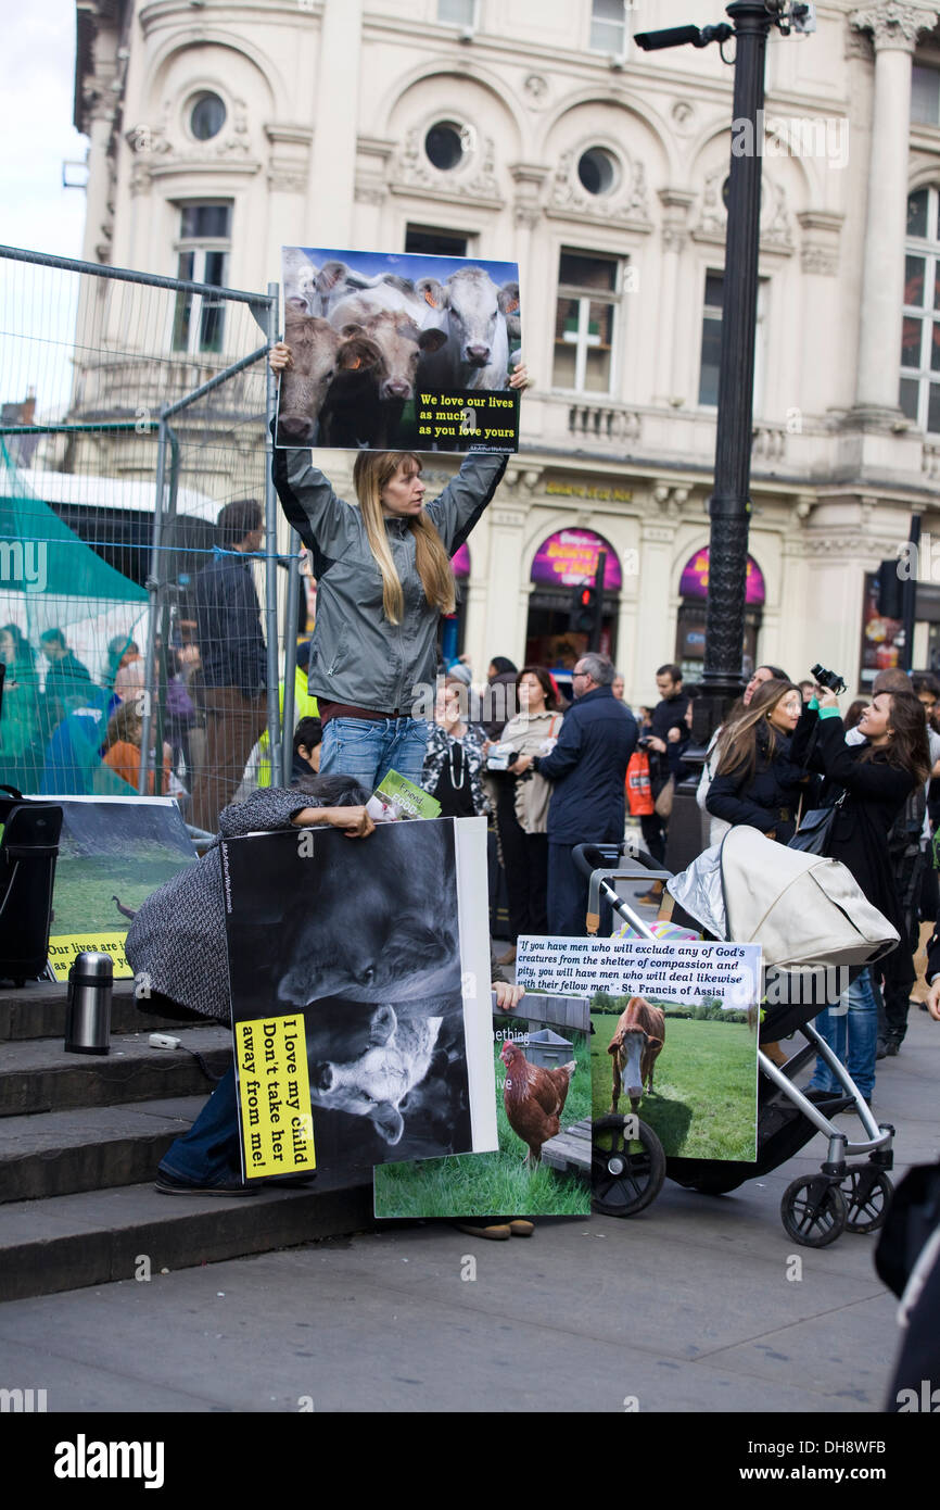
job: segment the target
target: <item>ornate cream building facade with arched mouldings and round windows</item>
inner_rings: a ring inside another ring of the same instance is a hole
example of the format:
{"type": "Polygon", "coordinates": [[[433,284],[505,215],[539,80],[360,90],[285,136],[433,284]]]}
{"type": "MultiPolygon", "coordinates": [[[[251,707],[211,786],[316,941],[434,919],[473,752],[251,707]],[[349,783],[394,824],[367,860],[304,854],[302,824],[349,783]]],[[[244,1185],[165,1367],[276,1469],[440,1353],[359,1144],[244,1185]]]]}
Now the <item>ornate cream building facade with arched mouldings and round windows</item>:
{"type": "MultiPolygon", "coordinates": [[[[911,513],[940,535],[940,8],[822,0],[813,35],[771,33],[753,142],[715,47],[631,39],[720,9],[77,3],[88,260],[249,290],[282,245],[519,263],[534,387],[469,542],[478,673],[579,649],[572,584],[602,545],[628,695],[667,660],[696,675],[732,149],[763,154],[747,655],[852,690],[896,658],[878,563],[911,513]]],[[[190,355],[211,335],[190,320],[190,355]]],[[[343,491],[352,458],[320,459],[343,491]]],[[[931,565],[919,666],[940,664],[931,565]]]]}

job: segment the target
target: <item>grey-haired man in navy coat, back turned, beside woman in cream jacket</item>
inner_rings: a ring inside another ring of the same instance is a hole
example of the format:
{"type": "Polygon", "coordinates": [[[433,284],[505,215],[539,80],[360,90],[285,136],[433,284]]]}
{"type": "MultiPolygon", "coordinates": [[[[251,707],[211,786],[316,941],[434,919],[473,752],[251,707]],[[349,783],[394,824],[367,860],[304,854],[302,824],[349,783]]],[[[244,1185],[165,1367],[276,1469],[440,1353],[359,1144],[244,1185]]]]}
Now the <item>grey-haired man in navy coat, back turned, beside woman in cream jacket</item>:
{"type": "Polygon", "coordinates": [[[575,865],[575,844],[623,843],[626,766],[637,747],[637,720],[614,698],[613,680],[607,655],[581,655],[573,670],[575,701],[554,750],[516,763],[518,772],[531,766],[554,784],[548,806],[549,933],[587,932],[587,877],[575,865]]]}

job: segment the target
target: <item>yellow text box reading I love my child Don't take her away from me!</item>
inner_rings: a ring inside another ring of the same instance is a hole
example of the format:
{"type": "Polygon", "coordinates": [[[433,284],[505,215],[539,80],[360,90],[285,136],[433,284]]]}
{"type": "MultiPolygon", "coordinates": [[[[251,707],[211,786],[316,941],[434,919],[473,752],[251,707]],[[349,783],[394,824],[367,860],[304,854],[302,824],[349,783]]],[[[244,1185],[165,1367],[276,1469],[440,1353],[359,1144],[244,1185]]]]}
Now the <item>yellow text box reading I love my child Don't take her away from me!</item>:
{"type": "Polygon", "coordinates": [[[244,1178],[317,1167],[303,1015],[235,1022],[244,1178]]]}

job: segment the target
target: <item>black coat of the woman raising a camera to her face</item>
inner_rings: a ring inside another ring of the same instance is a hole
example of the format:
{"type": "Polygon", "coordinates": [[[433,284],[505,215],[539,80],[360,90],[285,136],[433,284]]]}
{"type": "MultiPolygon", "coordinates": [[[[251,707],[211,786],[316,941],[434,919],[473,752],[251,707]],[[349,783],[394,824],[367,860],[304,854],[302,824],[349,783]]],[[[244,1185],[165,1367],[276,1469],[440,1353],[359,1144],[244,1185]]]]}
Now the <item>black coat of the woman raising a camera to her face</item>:
{"type": "MultiPolygon", "coordinates": [[[[846,793],[833,820],[825,853],[842,861],[872,906],[904,939],[904,909],[895,886],[887,832],[914,790],[916,779],[890,766],[881,750],[863,760],[869,749],[868,740],[862,744],[845,743],[840,719],[821,719],[816,708],[804,708],[794,732],[791,758],[806,760],[812,770],[824,773],[824,803],[834,802],[840,791],[846,793]]],[[[893,971],[902,969],[913,983],[907,948],[892,951],[890,960],[893,971]]]]}

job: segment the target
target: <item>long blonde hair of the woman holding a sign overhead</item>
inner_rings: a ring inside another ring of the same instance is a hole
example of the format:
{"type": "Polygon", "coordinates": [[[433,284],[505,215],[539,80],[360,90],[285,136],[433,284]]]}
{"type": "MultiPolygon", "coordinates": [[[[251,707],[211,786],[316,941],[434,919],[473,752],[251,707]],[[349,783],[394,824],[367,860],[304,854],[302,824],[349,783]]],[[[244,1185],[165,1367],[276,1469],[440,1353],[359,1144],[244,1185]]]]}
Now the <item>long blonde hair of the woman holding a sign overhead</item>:
{"type": "MultiPolygon", "coordinates": [[[[421,458],[412,451],[359,451],[353,467],[353,483],[362,509],[368,547],[382,572],[382,607],[391,624],[401,622],[404,593],[385,533],[382,489],[404,461],[413,461],[421,471],[421,458]]],[[[457,602],[457,584],[444,541],[424,509],[413,519],[407,519],[406,525],[415,536],[415,566],[421,577],[424,596],[439,613],[453,613],[457,602]]]]}

